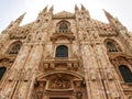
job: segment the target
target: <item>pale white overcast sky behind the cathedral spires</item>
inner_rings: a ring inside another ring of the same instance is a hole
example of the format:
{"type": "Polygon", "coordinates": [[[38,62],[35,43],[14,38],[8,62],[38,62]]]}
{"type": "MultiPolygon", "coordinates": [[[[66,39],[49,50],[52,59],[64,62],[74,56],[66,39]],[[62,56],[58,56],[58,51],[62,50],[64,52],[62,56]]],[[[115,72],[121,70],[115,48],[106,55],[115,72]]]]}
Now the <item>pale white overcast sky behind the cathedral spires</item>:
{"type": "Polygon", "coordinates": [[[66,10],[74,12],[75,3],[82,3],[92,19],[108,22],[102,9],[118,18],[124,26],[132,31],[132,0],[0,0],[0,32],[11,21],[26,12],[21,25],[35,21],[40,11],[54,4],[54,13],[66,10]]]}

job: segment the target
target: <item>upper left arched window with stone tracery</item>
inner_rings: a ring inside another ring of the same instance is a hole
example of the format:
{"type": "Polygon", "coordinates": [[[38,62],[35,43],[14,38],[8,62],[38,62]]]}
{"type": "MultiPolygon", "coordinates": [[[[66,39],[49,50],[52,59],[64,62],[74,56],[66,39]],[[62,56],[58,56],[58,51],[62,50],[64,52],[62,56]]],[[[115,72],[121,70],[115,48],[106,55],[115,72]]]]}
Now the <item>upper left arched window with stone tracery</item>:
{"type": "Polygon", "coordinates": [[[20,48],[21,48],[22,43],[21,42],[15,42],[10,46],[9,54],[18,54],[20,48]]]}

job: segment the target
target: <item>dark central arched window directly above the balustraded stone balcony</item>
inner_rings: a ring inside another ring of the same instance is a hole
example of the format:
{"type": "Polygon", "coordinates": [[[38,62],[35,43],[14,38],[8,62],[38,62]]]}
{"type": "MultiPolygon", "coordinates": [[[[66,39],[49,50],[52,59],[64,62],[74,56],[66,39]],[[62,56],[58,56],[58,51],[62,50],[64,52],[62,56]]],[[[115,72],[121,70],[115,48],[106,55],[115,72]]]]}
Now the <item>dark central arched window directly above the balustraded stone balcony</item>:
{"type": "Polygon", "coordinates": [[[65,45],[57,46],[55,57],[68,57],[68,47],[65,45]]]}

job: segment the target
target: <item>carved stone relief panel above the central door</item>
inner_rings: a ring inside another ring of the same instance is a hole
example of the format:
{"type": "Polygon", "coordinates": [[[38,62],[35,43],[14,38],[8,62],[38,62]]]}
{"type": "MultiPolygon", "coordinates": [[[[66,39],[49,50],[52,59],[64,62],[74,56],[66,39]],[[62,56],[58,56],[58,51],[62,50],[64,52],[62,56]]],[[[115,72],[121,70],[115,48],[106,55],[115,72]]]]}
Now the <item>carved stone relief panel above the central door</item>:
{"type": "Polygon", "coordinates": [[[51,80],[51,89],[68,89],[68,88],[72,88],[70,80],[58,78],[51,80]]]}

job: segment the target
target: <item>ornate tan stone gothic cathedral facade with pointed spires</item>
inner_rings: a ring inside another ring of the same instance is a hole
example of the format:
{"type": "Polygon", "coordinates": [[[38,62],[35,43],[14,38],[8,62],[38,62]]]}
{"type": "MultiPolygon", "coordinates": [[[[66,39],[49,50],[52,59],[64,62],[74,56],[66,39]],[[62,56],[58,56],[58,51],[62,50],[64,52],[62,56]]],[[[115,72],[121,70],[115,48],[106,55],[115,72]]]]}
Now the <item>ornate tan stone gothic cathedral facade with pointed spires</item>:
{"type": "Polygon", "coordinates": [[[105,11],[47,7],[0,35],[0,99],[132,99],[132,33],[105,11]]]}

